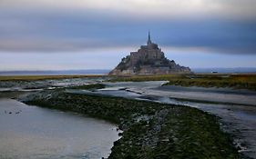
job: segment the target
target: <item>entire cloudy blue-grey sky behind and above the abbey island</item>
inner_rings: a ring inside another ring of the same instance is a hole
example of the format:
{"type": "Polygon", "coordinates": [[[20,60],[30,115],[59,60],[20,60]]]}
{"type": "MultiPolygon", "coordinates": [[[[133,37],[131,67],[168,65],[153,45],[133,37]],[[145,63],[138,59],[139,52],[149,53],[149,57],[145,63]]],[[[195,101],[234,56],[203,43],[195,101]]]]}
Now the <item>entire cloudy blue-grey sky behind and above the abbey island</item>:
{"type": "Polygon", "coordinates": [[[191,68],[256,67],[256,0],[0,0],[0,71],[111,69],[151,38],[191,68]]]}

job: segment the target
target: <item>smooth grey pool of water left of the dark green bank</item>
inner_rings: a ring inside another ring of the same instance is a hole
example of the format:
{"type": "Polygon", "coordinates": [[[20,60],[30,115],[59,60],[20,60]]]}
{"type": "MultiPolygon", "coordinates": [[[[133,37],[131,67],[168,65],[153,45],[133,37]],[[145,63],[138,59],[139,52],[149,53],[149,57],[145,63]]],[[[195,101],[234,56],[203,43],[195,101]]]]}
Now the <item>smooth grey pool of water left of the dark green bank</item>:
{"type": "Polygon", "coordinates": [[[117,126],[81,114],[0,98],[0,158],[107,157],[117,126]]]}

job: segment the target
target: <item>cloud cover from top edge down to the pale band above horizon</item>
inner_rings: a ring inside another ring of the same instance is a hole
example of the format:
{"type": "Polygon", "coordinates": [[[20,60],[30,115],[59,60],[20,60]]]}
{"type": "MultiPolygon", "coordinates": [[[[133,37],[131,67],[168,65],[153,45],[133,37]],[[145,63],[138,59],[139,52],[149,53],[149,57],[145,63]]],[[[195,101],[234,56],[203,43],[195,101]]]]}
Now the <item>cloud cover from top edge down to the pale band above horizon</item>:
{"type": "Polygon", "coordinates": [[[256,54],[255,0],[2,0],[0,51],[77,52],[146,42],[256,54]]]}

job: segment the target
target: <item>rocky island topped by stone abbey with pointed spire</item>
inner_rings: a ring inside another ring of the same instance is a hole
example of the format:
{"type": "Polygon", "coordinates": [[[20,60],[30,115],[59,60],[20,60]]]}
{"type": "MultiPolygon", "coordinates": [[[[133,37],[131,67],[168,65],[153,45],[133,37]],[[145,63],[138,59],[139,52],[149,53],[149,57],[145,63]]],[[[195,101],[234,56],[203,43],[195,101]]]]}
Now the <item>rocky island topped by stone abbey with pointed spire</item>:
{"type": "Polygon", "coordinates": [[[148,32],[147,45],[141,45],[137,52],[122,58],[109,75],[165,75],[191,73],[189,67],[177,65],[165,57],[157,44],[152,43],[148,32]]]}

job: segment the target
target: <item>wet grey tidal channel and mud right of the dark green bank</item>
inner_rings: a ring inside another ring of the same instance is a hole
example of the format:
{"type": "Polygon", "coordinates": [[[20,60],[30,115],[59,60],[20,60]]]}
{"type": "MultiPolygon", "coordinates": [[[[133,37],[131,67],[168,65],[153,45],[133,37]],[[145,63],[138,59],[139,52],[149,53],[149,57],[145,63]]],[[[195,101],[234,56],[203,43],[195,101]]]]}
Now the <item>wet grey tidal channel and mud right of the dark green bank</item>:
{"type": "Polygon", "coordinates": [[[164,104],[196,107],[220,117],[222,128],[234,137],[242,154],[256,156],[256,93],[230,88],[164,85],[166,81],[104,83],[106,88],[90,92],[67,90],[73,94],[124,96],[164,104]]]}

